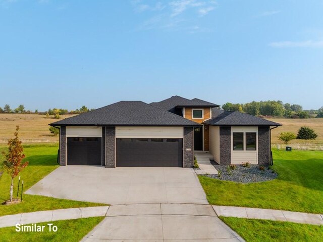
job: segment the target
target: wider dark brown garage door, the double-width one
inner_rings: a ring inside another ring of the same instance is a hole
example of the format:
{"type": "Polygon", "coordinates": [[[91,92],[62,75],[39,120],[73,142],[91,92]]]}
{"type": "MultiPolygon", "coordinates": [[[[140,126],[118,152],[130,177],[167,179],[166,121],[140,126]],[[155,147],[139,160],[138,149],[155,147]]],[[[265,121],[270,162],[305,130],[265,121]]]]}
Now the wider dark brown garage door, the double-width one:
{"type": "Polygon", "coordinates": [[[182,167],[181,138],[117,138],[117,167],[182,167]]]}

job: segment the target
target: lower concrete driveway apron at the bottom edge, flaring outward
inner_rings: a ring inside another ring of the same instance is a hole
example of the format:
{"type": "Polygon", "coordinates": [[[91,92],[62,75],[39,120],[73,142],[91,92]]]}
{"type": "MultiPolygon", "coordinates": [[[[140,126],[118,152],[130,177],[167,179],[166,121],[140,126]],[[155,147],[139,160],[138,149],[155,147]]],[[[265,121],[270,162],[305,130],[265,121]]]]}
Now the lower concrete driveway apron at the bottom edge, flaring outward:
{"type": "Polygon", "coordinates": [[[210,205],[115,205],[82,242],[99,241],[244,241],[210,205]]]}

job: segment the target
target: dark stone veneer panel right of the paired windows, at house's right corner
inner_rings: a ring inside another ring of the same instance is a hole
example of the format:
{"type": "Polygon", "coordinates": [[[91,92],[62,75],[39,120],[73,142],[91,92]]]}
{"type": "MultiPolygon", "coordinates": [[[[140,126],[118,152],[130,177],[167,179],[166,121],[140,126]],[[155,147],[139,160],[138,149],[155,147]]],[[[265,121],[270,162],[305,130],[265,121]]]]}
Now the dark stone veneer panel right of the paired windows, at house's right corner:
{"type": "Polygon", "coordinates": [[[270,127],[258,127],[258,164],[269,165],[271,159],[270,127]]]}

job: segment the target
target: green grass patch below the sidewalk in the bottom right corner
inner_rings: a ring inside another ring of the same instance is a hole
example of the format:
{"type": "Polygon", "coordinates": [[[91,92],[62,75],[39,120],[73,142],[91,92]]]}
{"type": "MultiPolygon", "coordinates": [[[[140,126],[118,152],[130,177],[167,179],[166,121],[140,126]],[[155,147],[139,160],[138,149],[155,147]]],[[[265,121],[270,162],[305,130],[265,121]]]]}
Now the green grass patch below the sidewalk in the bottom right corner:
{"type": "Polygon", "coordinates": [[[246,241],[322,241],[323,226],[271,220],[220,217],[246,241]]]}

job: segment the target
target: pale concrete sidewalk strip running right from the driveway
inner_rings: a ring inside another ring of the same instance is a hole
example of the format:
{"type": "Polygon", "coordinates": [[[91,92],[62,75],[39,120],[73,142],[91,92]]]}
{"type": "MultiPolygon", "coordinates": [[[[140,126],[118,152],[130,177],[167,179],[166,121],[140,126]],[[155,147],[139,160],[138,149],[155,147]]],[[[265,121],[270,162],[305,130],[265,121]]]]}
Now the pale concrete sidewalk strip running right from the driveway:
{"type": "Polygon", "coordinates": [[[218,216],[323,225],[322,214],[212,205],[218,216]]]}

